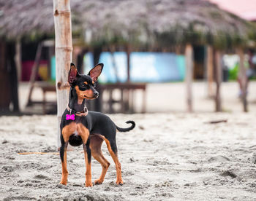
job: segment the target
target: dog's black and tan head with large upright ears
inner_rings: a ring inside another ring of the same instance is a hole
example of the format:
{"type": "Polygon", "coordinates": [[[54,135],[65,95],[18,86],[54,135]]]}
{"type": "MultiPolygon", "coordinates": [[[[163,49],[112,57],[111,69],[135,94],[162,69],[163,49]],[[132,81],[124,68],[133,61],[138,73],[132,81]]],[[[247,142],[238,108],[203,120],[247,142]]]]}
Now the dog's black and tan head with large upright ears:
{"type": "Polygon", "coordinates": [[[87,75],[81,75],[75,64],[70,64],[69,84],[75,88],[78,98],[95,99],[98,98],[99,92],[95,90],[96,82],[99,75],[102,73],[103,63],[99,63],[89,71],[87,75]]]}

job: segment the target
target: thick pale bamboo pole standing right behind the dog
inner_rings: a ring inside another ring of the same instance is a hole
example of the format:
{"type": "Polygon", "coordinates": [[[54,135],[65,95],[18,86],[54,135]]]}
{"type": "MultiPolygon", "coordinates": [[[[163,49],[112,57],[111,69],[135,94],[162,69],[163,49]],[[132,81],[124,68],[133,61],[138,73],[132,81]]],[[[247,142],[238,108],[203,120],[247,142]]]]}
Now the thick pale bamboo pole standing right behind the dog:
{"type": "Polygon", "coordinates": [[[56,55],[56,92],[57,92],[57,142],[60,143],[61,116],[67,108],[68,90],[61,90],[61,84],[67,83],[70,63],[72,60],[71,13],[69,0],[53,0],[53,15],[55,26],[55,55],[56,55]]]}

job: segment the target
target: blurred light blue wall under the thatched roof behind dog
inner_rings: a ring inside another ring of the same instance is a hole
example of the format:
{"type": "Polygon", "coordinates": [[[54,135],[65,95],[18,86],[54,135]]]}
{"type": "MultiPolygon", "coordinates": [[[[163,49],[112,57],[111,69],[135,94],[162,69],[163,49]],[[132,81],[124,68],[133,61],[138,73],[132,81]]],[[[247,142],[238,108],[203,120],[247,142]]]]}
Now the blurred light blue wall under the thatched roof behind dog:
{"type": "MultiPolygon", "coordinates": [[[[127,54],[115,52],[118,79],[120,82],[127,80],[127,54]]],[[[132,52],[130,55],[130,79],[132,82],[174,82],[182,81],[185,76],[185,58],[183,55],[162,52],[132,52]]],[[[93,66],[93,56],[89,52],[85,55],[86,73],[93,66]]],[[[99,63],[104,63],[104,70],[99,81],[116,82],[110,52],[102,52],[99,63]]]]}

